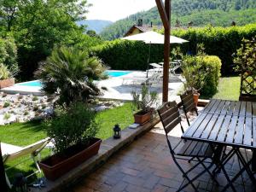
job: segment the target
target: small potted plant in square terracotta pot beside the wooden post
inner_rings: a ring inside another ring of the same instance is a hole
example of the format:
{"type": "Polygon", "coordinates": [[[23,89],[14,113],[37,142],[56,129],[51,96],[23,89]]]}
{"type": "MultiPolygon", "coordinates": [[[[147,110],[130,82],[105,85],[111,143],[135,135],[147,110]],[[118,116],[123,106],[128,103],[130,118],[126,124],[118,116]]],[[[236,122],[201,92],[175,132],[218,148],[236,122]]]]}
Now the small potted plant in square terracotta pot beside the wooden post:
{"type": "Polygon", "coordinates": [[[151,119],[152,112],[154,111],[154,104],[157,101],[157,92],[150,91],[148,85],[143,84],[142,91],[132,91],[133,105],[139,110],[134,114],[134,121],[137,124],[143,125],[151,119]]]}

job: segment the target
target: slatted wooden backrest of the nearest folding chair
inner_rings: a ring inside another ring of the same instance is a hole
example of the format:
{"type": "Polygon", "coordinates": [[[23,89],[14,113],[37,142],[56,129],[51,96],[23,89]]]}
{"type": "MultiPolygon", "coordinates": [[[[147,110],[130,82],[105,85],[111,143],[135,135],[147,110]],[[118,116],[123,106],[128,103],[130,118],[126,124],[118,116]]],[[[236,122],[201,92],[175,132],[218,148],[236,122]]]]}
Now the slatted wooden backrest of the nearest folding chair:
{"type": "Polygon", "coordinates": [[[159,113],[166,134],[172,131],[172,129],[181,122],[176,102],[166,102],[157,111],[159,113]]]}

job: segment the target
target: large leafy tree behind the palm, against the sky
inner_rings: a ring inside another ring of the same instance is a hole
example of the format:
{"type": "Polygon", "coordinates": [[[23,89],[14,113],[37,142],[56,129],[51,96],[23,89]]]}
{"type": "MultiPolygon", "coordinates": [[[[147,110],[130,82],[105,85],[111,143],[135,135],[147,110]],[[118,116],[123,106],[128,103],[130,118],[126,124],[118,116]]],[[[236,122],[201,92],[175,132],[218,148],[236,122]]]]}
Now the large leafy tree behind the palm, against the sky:
{"type": "Polygon", "coordinates": [[[15,37],[21,79],[32,78],[55,44],[79,43],[84,26],[75,22],[85,19],[89,6],[86,0],[1,1],[0,30],[15,37]]]}

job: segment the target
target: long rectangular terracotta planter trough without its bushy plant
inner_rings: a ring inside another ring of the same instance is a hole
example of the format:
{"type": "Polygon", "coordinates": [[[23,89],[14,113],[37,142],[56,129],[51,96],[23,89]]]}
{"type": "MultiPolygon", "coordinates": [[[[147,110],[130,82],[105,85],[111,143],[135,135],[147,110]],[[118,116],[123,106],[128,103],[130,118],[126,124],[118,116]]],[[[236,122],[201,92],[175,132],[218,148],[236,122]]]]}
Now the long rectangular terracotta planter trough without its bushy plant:
{"type": "Polygon", "coordinates": [[[101,139],[93,138],[89,145],[84,146],[80,144],[67,148],[65,157],[54,154],[39,162],[39,166],[43,170],[44,176],[54,181],[56,178],[72,170],[75,166],[79,166],[79,164],[97,154],[101,143],[101,139]]]}

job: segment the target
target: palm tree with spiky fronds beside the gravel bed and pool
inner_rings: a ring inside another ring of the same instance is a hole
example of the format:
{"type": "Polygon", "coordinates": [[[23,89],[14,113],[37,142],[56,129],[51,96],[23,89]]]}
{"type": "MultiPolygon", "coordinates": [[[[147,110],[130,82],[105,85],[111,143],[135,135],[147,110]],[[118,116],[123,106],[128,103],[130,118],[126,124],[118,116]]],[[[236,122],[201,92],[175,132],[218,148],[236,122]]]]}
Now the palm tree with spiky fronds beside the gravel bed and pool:
{"type": "Polygon", "coordinates": [[[98,96],[100,90],[93,80],[106,77],[106,67],[96,57],[89,57],[83,50],[73,47],[54,49],[46,61],[42,62],[36,75],[42,80],[47,94],[59,96],[60,104],[88,102],[98,96]]]}

